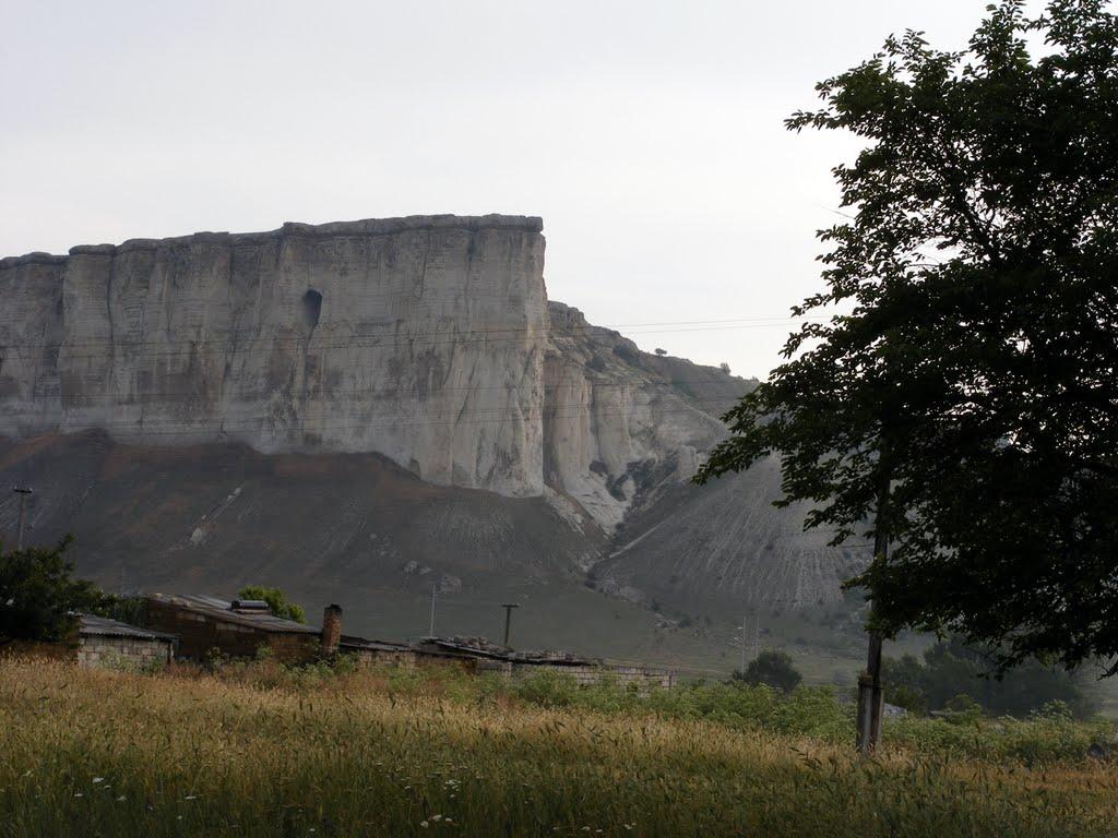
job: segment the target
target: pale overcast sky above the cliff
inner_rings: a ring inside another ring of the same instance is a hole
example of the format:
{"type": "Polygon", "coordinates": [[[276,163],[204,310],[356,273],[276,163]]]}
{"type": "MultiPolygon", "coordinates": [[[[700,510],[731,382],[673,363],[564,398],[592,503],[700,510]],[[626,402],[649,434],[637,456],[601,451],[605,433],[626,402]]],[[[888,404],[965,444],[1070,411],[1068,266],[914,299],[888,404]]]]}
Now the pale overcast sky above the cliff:
{"type": "Polygon", "coordinates": [[[0,255],[542,216],[551,299],[764,378],[822,287],[814,85],[985,0],[0,0],[0,255]],[[650,325],[653,324],[653,325],[650,325]]]}

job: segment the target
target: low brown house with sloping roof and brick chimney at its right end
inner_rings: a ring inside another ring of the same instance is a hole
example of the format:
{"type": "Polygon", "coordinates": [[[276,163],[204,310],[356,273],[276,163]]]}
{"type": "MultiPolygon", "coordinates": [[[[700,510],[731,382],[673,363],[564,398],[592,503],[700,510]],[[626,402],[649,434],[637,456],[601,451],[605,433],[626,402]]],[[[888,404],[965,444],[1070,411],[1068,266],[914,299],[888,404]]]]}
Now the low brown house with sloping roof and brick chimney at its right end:
{"type": "Polygon", "coordinates": [[[276,617],[260,600],[228,602],[205,594],[149,594],[145,625],[179,637],[181,658],[205,660],[218,651],[226,657],[255,657],[262,647],[285,664],[314,660],[338,651],[341,608],[328,606],[322,628],[276,617]]]}

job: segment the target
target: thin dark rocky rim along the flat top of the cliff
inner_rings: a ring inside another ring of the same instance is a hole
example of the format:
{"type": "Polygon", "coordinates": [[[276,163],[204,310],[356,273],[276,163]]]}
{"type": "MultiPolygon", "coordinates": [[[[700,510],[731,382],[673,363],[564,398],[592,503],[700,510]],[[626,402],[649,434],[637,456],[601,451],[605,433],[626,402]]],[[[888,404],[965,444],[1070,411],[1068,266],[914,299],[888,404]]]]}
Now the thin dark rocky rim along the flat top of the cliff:
{"type": "MultiPolygon", "coordinates": [[[[405,216],[402,218],[367,218],[360,221],[328,221],[307,225],[287,221],[283,227],[267,232],[195,232],[189,236],[173,236],[164,239],[129,239],[120,245],[76,245],[69,249],[70,256],[115,256],[135,250],[157,250],[164,246],[182,245],[262,245],[280,238],[334,238],[353,236],[391,236],[408,230],[456,229],[456,230],[523,230],[540,232],[543,219],[537,216],[405,216]]],[[[46,253],[30,253],[23,256],[8,256],[0,259],[0,270],[22,265],[65,265],[68,257],[46,253]]]]}

